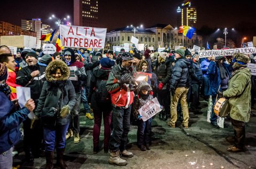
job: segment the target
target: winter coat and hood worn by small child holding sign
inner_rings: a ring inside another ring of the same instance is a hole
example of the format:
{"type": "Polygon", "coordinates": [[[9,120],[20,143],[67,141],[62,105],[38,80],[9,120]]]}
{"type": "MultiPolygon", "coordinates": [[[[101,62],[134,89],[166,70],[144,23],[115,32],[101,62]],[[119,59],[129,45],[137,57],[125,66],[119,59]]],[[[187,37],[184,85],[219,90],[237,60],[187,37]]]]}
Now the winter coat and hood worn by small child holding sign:
{"type": "Polygon", "coordinates": [[[138,86],[138,92],[137,92],[138,94],[134,97],[134,101],[133,101],[133,116],[134,117],[138,117],[138,115],[139,115],[138,110],[142,106],[144,106],[148,101],[153,100],[153,95],[151,95],[151,93],[149,93],[149,96],[146,100],[144,100],[140,97],[139,93],[141,92],[141,87],[142,86],[148,86],[150,88],[148,83],[142,83],[138,86]]]}

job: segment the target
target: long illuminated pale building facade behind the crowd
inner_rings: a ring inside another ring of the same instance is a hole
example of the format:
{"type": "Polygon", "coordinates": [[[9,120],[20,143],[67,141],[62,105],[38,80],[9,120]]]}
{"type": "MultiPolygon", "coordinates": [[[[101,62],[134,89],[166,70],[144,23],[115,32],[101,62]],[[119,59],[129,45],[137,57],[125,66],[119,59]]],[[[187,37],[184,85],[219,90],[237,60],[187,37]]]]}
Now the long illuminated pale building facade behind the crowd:
{"type": "MultiPolygon", "coordinates": [[[[134,36],[132,28],[124,27],[111,30],[106,35],[105,48],[112,49],[113,46],[131,43],[132,36],[134,36]]],[[[139,39],[139,44],[152,46],[154,50],[159,46],[170,47],[170,49],[175,49],[175,46],[185,46],[189,49],[192,49],[193,45],[202,46],[202,36],[194,35],[191,39],[188,39],[179,34],[178,29],[164,24],[157,24],[146,29],[137,29],[134,37],[139,39]]]]}

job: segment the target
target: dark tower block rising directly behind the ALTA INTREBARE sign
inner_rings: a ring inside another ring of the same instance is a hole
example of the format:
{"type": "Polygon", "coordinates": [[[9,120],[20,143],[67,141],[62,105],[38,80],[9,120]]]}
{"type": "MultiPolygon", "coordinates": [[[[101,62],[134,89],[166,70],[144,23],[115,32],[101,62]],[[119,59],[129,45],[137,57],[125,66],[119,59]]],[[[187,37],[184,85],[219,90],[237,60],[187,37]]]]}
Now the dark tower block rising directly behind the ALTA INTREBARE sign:
{"type": "Polygon", "coordinates": [[[74,25],[98,27],[98,0],[74,0],[74,25]]]}

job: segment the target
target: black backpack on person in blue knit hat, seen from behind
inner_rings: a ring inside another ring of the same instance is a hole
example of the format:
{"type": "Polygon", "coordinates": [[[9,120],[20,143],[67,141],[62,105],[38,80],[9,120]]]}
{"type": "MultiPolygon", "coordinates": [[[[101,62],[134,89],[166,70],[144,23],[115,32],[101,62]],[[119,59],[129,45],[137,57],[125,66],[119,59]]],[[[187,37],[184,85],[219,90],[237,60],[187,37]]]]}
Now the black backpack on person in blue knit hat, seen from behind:
{"type": "Polygon", "coordinates": [[[106,84],[107,80],[97,79],[96,99],[99,105],[111,102],[106,84]]]}

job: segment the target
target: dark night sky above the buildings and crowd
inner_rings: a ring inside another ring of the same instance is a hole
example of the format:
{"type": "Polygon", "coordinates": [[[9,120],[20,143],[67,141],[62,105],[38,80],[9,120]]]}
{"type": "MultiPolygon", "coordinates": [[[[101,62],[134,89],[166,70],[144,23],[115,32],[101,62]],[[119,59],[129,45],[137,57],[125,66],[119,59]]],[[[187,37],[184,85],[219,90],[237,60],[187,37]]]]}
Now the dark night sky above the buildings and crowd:
{"type": "MultiPolygon", "coordinates": [[[[99,1],[99,27],[120,28],[133,24],[145,27],[156,23],[170,23],[177,26],[176,9],[182,1],[157,0],[157,1],[99,1]]],[[[211,28],[234,27],[244,24],[244,27],[256,26],[255,5],[253,1],[195,1],[192,5],[197,8],[197,25],[201,28],[207,25],[211,28]]],[[[73,22],[73,0],[54,1],[1,1],[0,21],[21,25],[21,19],[41,18],[43,22],[54,25],[48,18],[55,14],[59,18],[67,14],[73,22]]],[[[177,26],[179,27],[179,26],[177,26]]],[[[256,33],[255,33],[256,34],[256,33]]]]}

